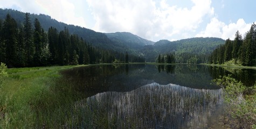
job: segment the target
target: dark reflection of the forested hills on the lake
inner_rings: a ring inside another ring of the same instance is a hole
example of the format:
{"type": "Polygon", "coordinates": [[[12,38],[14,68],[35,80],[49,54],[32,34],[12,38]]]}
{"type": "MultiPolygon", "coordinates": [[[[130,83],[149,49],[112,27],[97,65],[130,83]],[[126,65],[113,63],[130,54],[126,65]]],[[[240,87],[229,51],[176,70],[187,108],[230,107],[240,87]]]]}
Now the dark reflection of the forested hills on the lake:
{"type": "Polygon", "coordinates": [[[219,75],[232,74],[246,85],[253,85],[256,80],[254,69],[234,69],[204,65],[99,65],[78,67],[61,72],[64,80],[69,80],[77,92],[89,96],[99,92],[132,91],[150,83],[177,84],[196,89],[219,89],[211,84],[219,75]]]}

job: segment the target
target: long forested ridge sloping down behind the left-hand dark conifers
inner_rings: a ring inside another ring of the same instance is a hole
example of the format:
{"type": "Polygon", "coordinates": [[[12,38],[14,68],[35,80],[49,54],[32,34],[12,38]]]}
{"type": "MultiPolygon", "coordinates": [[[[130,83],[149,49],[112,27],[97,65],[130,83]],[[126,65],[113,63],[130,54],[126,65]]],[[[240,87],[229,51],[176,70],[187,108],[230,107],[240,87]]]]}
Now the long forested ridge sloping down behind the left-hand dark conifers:
{"type": "MultiPolygon", "coordinates": [[[[4,19],[8,13],[13,19],[17,21],[17,23],[23,23],[25,13],[11,9],[0,9],[0,19],[4,19]]],[[[95,47],[112,49],[115,51],[118,50],[119,52],[123,51],[121,49],[122,47],[118,46],[118,44],[113,44],[113,42],[110,41],[104,33],[95,32],[80,26],[61,23],[55,19],[52,19],[50,16],[43,14],[36,15],[29,13],[29,16],[32,22],[37,18],[44,30],[48,30],[48,28],[52,26],[60,31],[66,27],[68,28],[70,34],[77,34],[78,37],[85,39],[88,44],[92,44],[95,47]]],[[[18,24],[18,26],[20,26],[20,24],[18,24]]]]}

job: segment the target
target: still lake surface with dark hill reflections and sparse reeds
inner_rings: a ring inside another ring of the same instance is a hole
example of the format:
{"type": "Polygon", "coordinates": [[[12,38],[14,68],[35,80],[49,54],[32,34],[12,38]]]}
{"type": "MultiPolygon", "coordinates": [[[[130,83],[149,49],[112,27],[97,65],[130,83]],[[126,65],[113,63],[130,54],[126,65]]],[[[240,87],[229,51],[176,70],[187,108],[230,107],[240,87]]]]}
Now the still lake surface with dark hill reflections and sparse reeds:
{"type": "Polygon", "coordinates": [[[97,65],[62,71],[86,97],[76,102],[82,128],[225,128],[219,75],[252,85],[256,70],[204,65],[97,65]]]}

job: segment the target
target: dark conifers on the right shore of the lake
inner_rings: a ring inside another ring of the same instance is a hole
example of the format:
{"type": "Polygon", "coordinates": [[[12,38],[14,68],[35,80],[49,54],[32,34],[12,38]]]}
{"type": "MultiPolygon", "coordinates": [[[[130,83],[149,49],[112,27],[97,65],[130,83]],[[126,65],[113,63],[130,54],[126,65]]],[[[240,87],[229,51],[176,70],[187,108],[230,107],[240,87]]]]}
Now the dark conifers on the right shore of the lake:
{"type": "Polygon", "coordinates": [[[243,66],[256,64],[256,25],[254,23],[246,32],[244,39],[237,31],[234,40],[227,39],[225,44],[216,48],[209,57],[209,63],[213,64],[224,64],[231,60],[243,66]]]}

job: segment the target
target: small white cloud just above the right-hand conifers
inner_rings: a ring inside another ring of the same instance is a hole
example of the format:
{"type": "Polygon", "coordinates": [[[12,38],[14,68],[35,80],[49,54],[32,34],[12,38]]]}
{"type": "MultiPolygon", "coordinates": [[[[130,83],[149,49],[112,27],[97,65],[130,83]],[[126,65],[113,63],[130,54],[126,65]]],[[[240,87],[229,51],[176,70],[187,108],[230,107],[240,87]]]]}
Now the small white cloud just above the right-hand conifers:
{"type": "Polygon", "coordinates": [[[238,19],[237,23],[230,23],[226,25],[222,21],[219,21],[216,17],[211,19],[211,22],[207,24],[204,31],[198,33],[196,37],[219,37],[222,39],[231,40],[234,39],[234,34],[239,31],[242,36],[250,30],[251,24],[245,23],[244,19],[238,19]]]}

